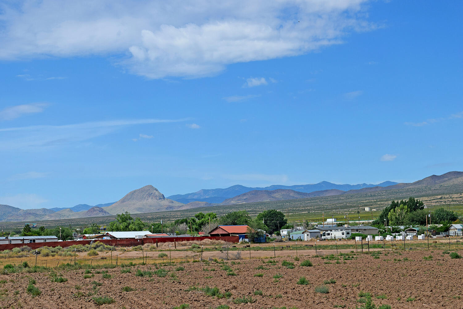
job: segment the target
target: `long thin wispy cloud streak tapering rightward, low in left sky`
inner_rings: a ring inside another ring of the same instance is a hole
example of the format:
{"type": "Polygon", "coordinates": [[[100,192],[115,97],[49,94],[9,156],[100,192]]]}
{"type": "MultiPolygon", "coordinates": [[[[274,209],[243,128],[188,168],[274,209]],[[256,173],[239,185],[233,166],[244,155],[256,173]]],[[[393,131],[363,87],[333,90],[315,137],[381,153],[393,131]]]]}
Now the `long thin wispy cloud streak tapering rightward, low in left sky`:
{"type": "Polygon", "coordinates": [[[93,121],[62,126],[23,126],[0,129],[0,151],[38,149],[70,144],[106,135],[125,126],[172,123],[186,119],[135,119],[93,121]]]}

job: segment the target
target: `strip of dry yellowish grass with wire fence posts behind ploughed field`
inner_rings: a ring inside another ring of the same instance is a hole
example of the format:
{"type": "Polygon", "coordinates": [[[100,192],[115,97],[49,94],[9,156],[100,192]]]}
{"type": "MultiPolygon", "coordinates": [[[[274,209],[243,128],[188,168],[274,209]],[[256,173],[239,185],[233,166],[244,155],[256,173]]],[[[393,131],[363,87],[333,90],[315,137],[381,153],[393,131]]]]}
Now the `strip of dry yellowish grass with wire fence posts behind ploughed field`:
{"type": "Polygon", "coordinates": [[[375,251],[404,251],[404,250],[463,250],[462,237],[448,237],[444,239],[426,240],[378,240],[378,241],[296,241],[275,242],[268,244],[235,244],[224,243],[215,246],[176,246],[168,245],[156,247],[153,245],[117,248],[114,251],[98,252],[90,257],[87,252],[72,252],[69,256],[41,256],[28,252],[26,256],[15,257],[1,255],[0,265],[7,263],[19,264],[27,262],[29,265],[58,266],[66,263],[80,263],[90,265],[125,265],[127,263],[163,263],[163,262],[196,262],[241,259],[271,259],[295,258],[299,256],[326,256],[331,254],[367,253],[375,251]],[[128,250],[127,250],[128,249],[128,250]]]}

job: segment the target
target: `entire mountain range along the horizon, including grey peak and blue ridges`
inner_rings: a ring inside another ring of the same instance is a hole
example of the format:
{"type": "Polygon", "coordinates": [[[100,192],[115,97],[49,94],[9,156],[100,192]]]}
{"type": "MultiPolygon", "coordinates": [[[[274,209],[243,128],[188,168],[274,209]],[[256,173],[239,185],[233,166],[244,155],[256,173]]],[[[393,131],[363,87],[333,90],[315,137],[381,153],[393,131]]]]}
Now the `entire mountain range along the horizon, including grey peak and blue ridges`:
{"type": "MultiPolygon", "coordinates": [[[[432,175],[413,183],[384,182],[377,185],[366,183],[349,185],[321,182],[295,186],[272,185],[265,188],[250,188],[235,185],[225,189],[203,189],[184,195],[171,195],[167,198],[155,187],[147,185],[127,193],[117,202],[99,204],[95,206],[79,204],[70,208],[20,209],[9,205],[0,205],[0,221],[31,221],[32,223],[32,221],[39,220],[107,216],[120,214],[125,211],[128,211],[131,214],[151,213],[199,207],[220,207],[253,202],[270,202],[310,197],[362,194],[394,189],[407,190],[420,188],[423,192],[432,192],[433,189],[445,189],[445,187],[461,187],[463,190],[463,172],[452,171],[439,176],[432,175]],[[310,191],[312,189],[321,190],[310,191]],[[211,203],[208,201],[216,202],[211,203]]],[[[237,207],[236,209],[238,210],[240,208],[237,207]]]]}

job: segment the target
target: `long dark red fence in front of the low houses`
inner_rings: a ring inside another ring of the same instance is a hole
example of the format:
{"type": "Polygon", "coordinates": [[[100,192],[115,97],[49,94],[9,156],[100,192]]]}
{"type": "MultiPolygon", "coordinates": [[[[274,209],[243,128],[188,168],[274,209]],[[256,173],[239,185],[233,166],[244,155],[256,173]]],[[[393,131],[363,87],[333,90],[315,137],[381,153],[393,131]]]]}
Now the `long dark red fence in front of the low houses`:
{"type": "Polygon", "coordinates": [[[94,240],[66,240],[66,241],[47,241],[47,242],[31,242],[24,244],[1,244],[0,250],[13,249],[16,247],[28,246],[31,249],[38,249],[43,246],[48,247],[69,247],[73,245],[88,245],[90,243],[100,241],[109,246],[138,246],[143,244],[156,244],[161,242],[174,242],[174,241],[191,241],[191,240],[224,240],[227,242],[237,243],[238,236],[203,236],[203,237],[156,237],[156,238],[142,238],[142,239],[94,239],[94,240]]]}

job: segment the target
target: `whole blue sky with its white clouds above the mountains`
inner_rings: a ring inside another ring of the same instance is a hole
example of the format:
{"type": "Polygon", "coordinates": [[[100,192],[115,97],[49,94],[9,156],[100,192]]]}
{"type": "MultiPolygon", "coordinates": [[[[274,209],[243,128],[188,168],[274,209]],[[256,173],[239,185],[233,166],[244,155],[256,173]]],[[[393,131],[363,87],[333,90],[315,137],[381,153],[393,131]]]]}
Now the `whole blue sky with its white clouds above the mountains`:
{"type": "Polygon", "coordinates": [[[0,204],[463,170],[459,1],[6,1],[0,204]]]}

